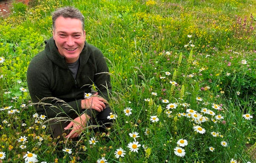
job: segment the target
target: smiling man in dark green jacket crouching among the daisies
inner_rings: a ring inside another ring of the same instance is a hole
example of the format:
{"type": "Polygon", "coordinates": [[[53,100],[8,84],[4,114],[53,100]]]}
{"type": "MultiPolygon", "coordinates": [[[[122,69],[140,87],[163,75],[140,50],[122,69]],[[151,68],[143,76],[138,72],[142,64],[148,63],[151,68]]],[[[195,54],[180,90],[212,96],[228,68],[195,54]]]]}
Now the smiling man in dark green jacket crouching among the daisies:
{"type": "Polygon", "coordinates": [[[64,132],[74,138],[89,122],[111,123],[109,69],[101,51],[85,41],[84,17],[78,9],[53,12],[52,26],[53,37],[29,64],[28,90],[38,114],[59,118],[50,120],[52,136],[64,132]]]}

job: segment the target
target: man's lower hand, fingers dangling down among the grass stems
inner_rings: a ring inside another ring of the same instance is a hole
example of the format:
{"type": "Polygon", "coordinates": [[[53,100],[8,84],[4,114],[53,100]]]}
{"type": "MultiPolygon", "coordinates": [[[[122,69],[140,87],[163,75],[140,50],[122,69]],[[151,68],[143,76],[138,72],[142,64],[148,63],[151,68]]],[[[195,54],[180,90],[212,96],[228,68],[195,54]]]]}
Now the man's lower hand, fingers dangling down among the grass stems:
{"type": "Polygon", "coordinates": [[[71,123],[69,123],[66,126],[66,128],[64,128],[64,130],[72,129],[70,134],[68,134],[66,136],[66,138],[72,139],[74,137],[79,136],[81,134],[83,128],[86,126],[88,119],[90,119],[90,118],[91,118],[90,116],[88,116],[86,114],[82,114],[81,116],[78,116],[73,121],[71,121],[71,123]]]}

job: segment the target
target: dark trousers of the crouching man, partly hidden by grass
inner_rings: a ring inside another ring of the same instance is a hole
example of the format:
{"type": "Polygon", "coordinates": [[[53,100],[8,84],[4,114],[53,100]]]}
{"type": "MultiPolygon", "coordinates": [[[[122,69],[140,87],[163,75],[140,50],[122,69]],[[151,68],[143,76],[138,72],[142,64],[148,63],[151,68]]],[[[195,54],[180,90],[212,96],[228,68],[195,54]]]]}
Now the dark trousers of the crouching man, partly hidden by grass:
{"type": "MultiPolygon", "coordinates": [[[[107,107],[103,111],[97,113],[97,115],[92,116],[90,120],[87,121],[87,126],[94,125],[94,131],[102,131],[111,126],[112,120],[107,119],[111,113],[111,109],[107,107]]],[[[75,119],[78,115],[72,115],[71,118],[75,119]]],[[[51,134],[53,138],[58,138],[63,140],[63,135],[68,135],[72,129],[64,130],[64,128],[71,122],[71,120],[63,119],[53,119],[49,121],[48,134],[51,134]]]]}

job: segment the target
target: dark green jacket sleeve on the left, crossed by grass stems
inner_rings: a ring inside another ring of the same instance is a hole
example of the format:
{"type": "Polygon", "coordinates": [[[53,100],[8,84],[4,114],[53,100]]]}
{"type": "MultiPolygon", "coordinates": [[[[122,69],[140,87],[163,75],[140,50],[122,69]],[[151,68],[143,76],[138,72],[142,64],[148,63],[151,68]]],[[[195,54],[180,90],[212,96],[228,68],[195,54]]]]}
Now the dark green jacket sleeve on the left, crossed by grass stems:
{"type": "Polygon", "coordinates": [[[38,114],[48,118],[66,116],[74,118],[82,114],[81,100],[66,103],[54,98],[50,90],[50,77],[47,68],[31,61],[27,70],[27,84],[31,100],[38,114]]]}

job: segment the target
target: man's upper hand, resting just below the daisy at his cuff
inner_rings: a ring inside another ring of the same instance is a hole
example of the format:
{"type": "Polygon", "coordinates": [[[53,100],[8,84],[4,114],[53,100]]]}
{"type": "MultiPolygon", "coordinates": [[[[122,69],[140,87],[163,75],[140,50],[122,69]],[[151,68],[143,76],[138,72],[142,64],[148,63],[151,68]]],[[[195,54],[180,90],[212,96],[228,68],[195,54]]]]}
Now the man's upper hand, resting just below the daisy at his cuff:
{"type": "Polygon", "coordinates": [[[106,109],[106,103],[107,101],[96,93],[88,99],[81,100],[81,107],[82,109],[95,109],[101,112],[106,109]]]}

